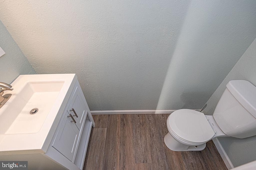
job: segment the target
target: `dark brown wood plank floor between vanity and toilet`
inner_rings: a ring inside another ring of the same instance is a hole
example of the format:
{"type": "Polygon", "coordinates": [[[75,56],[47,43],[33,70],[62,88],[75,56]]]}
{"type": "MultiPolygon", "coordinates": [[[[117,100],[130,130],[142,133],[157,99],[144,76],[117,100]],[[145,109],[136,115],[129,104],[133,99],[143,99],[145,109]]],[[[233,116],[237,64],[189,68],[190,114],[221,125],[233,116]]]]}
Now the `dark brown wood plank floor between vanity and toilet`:
{"type": "Polygon", "coordinates": [[[164,144],[168,114],[94,115],[86,170],[226,170],[214,143],[174,152],[164,144]]]}

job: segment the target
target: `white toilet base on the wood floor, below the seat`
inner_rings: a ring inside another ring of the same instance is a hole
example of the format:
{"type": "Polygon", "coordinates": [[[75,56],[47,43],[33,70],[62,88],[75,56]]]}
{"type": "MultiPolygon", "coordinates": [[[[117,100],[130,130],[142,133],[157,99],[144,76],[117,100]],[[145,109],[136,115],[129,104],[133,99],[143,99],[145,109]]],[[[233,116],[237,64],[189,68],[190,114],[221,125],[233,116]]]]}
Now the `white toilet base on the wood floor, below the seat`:
{"type": "Polygon", "coordinates": [[[206,147],[206,143],[198,146],[184,145],[176,141],[176,139],[174,139],[174,137],[172,137],[172,135],[169,132],[164,137],[164,143],[166,147],[173,151],[201,151],[204,150],[204,148],[206,147]]]}

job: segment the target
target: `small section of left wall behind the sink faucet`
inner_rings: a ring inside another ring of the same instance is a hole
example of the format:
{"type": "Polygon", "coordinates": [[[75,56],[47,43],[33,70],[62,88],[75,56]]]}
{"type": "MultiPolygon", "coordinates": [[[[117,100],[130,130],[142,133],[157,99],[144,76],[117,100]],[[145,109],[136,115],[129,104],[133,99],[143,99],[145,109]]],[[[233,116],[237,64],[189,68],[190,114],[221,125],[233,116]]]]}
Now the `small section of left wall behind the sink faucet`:
{"type": "Polygon", "coordinates": [[[1,21],[0,47],[5,52],[0,57],[0,82],[10,84],[20,74],[36,73],[1,21]]]}

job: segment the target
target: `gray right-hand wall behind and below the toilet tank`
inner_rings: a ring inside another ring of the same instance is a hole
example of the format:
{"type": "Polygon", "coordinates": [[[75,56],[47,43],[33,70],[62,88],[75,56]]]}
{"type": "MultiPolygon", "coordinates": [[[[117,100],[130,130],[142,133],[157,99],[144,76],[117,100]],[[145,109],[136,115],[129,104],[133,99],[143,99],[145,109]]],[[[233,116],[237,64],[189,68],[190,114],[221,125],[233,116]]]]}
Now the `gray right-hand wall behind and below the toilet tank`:
{"type": "MultiPolygon", "coordinates": [[[[208,106],[205,113],[212,115],[226,84],[230,80],[248,80],[256,86],[256,39],[212,94],[207,102],[208,106]]],[[[246,139],[233,137],[220,137],[218,139],[235,167],[256,160],[256,136],[246,139]]]]}

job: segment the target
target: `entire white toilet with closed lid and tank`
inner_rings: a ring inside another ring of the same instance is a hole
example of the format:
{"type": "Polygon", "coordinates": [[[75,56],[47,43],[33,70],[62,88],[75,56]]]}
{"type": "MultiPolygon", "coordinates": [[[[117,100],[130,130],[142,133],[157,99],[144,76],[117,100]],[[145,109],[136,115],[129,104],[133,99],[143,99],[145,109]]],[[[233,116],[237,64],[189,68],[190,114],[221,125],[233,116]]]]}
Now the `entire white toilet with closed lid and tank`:
{"type": "Polygon", "coordinates": [[[200,151],[216,137],[256,135],[256,87],[246,80],[226,85],[213,115],[179,109],[167,119],[165,145],[173,151],[200,151]]]}

